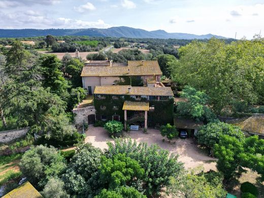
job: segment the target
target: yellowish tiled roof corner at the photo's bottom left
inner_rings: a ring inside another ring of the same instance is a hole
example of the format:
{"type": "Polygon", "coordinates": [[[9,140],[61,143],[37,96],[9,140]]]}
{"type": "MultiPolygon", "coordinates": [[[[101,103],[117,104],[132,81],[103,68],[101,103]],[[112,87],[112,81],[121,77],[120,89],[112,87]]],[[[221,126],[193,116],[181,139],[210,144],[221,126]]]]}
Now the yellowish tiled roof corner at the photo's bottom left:
{"type": "Polygon", "coordinates": [[[42,195],[29,182],[25,182],[2,198],[40,198],[42,195]]]}

